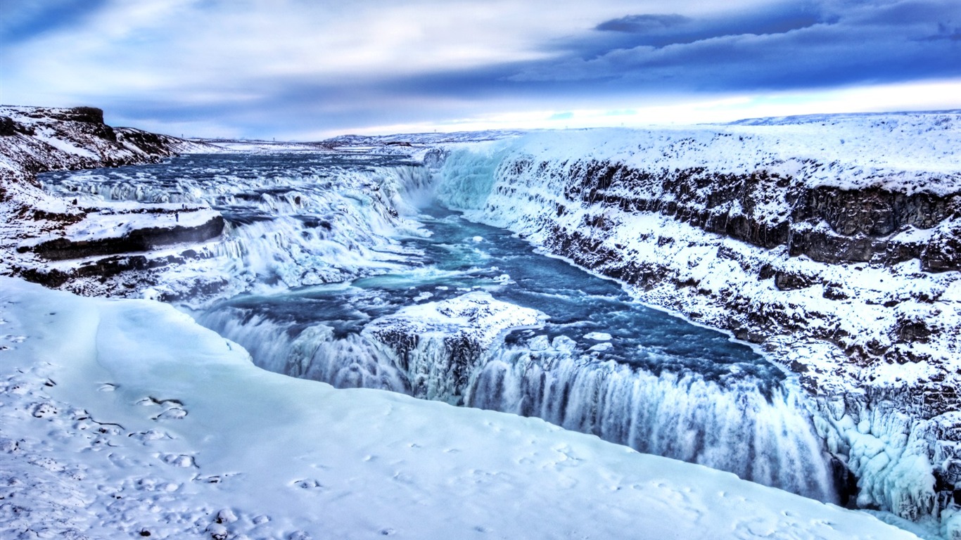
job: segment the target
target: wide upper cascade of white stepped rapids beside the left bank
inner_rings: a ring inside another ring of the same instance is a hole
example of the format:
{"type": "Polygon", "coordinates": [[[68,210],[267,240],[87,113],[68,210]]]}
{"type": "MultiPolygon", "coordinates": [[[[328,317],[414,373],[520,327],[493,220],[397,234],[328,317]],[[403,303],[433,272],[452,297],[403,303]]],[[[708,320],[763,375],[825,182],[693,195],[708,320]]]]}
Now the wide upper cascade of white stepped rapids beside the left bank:
{"type": "Polygon", "coordinates": [[[430,196],[429,171],[403,157],[198,155],[136,169],[45,175],[43,187],[99,201],[206,205],[223,214],[206,270],[233,292],[342,282],[396,270],[422,234],[407,218],[430,196]],[[237,285],[242,283],[242,285],[237,285]]]}

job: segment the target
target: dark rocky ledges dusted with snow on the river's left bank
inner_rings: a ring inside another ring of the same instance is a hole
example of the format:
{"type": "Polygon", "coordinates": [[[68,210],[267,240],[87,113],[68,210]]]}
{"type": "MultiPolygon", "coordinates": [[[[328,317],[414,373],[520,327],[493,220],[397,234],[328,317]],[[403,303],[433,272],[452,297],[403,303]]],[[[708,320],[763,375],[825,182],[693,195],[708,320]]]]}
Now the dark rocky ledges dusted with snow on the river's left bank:
{"type": "Polygon", "coordinates": [[[158,258],[144,254],[216,237],[224,228],[219,213],[196,205],[144,208],[79,201],[78,194],[51,196],[40,189],[36,175],[211,150],[216,148],[112,128],[104,123],[103,110],[91,107],[0,107],[0,274],[76,292],[117,294],[117,289],[134,288],[128,285],[132,275],[142,281],[152,269],[184,262],[179,252],[158,258]]]}

